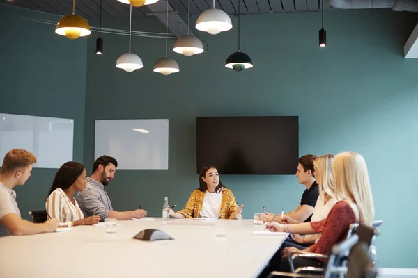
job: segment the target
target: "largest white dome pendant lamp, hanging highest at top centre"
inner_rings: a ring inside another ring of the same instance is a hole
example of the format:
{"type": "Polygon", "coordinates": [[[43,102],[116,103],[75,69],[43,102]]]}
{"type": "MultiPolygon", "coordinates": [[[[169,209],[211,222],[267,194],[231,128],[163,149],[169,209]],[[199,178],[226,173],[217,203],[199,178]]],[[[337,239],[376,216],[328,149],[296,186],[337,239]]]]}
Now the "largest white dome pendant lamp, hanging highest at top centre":
{"type": "Polygon", "coordinates": [[[217,35],[231,30],[231,28],[231,18],[223,10],[215,8],[215,0],[213,0],[213,8],[201,13],[196,21],[197,30],[208,32],[211,35],[217,35]]]}

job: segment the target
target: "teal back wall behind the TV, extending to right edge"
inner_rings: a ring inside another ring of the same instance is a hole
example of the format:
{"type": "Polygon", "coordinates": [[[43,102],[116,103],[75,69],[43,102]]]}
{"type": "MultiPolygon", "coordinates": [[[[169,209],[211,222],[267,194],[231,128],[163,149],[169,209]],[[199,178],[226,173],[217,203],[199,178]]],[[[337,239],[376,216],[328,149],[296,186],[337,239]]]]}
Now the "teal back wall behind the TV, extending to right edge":
{"type": "MultiPolygon", "coordinates": [[[[195,31],[209,42],[209,51],[192,57],[170,51],[180,65],[180,73],[170,76],[152,71],[164,55],[164,40],[132,39],[132,51],[144,61],[144,69],[132,73],[115,67],[116,58],[127,51],[125,37],[104,35],[104,55],[88,52],[84,163],[90,170],[95,120],[170,121],[169,170],[117,170],[108,187],[114,208],[130,210],[140,202],[150,215],[160,216],[166,196],[170,204],[184,206],[198,186],[196,116],[298,115],[301,155],[353,150],[366,159],[376,218],[385,222],[378,239],[379,265],[418,267],[413,256],[402,253],[418,243],[417,224],[408,213],[418,210],[411,194],[416,187],[411,174],[418,167],[418,60],[402,55],[417,24],[415,15],[326,13],[325,49],[318,47],[319,13],[249,15],[241,22],[241,50],[254,60],[254,68],[240,73],[224,68],[236,50],[237,28],[217,36],[195,31]]],[[[133,26],[145,31],[150,24],[133,26]]],[[[95,38],[88,44],[94,49],[95,38]]],[[[216,126],[208,132],[216,132],[216,126]]],[[[263,206],[290,211],[304,190],[293,176],[221,179],[245,205],[245,218],[263,206]]]]}

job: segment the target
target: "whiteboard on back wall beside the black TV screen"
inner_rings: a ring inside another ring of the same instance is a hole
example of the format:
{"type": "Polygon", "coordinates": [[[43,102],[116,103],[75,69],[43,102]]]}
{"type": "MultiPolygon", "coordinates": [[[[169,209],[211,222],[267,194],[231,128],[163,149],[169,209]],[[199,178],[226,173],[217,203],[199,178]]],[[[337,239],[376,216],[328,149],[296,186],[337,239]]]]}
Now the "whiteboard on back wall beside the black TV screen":
{"type": "Polygon", "coordinates": [[[118,169],[169,169],[169,120],[96,120],[95,158],[112,156],[118,169]]]}

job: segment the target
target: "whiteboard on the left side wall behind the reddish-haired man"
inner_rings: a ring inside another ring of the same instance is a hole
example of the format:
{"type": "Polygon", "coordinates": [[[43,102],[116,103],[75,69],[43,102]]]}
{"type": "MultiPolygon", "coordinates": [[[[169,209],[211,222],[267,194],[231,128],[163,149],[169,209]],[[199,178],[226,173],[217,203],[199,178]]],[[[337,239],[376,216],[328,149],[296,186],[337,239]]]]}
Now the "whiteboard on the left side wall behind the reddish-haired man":
{"type": "Polygon", "coordinates": [[[72,161],[73,137],[73,119],[0,113],[0,165],[10,149],[26,149],[33,167],[58,169],[72,161]]]}

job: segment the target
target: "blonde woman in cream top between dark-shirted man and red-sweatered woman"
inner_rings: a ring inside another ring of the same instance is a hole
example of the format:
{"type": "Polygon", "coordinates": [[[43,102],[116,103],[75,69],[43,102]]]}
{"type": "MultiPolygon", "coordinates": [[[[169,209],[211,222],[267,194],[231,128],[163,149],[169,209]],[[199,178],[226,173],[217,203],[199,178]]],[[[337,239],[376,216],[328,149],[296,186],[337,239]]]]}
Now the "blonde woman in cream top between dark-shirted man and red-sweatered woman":
{"type": "MultiPolygon", "coordinates": [[[[314,160],[314,176],[316,182],[318,183],[319,189],[319,196],[318,200],[316,201],[315,211],[312,215],[311,221],[318,222],[327,218],[328,213],[330,213],[331,208],[337,202],[335,195],[335,183],[334,177],[332,176],[332,163],[334,162],[334,154],[325,154],[323,156],[318,156],[314,160]]],[[[281,224],[297,224],[302,222],[297,222],[288,216],[284,216],[283,221],[280,222],[281,224]]],[[[313,234],[307,236],[300,236],[299,234],[293,234],[293,240],[297,245],[294,244],[285,244],[287,246],[294,246],[300,249],[307,247],[307,245],[311,245],[315,243],[318,238],[320,238],[321,234],[313,234]]]]}

